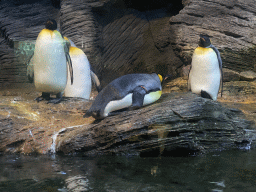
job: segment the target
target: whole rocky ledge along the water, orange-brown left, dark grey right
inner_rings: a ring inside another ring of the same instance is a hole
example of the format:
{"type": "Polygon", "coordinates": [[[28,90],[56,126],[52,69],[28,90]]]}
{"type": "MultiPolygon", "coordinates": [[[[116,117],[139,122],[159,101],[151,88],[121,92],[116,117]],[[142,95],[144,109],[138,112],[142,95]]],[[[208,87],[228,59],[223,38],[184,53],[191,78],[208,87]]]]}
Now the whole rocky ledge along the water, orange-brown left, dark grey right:
{"type": "Polygon", "coordinates": [[[92,101],[37,103],[32,98],[39,93],[22,90],[0,94],[3,153],[173,156],[249,148],[255,141],[255,124],[241,110],[188,92],[164,93],[152,105],[95,121],[83,118],[92,101]]]}

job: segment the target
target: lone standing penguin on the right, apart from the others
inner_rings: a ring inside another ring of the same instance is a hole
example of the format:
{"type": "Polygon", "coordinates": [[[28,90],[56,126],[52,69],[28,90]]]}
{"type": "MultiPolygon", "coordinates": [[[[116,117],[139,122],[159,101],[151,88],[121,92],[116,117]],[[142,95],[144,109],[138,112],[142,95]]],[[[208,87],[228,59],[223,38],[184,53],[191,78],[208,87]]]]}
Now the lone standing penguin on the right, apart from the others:
{"type": "Polygon", "coordinates": [[[192,56],[188,78],[188,90],[204,98],[217,100],[220,83],[223,90],[222,60],[216,47],[211,44],[208,35],[200,35],[199,47],[192,56]]]}

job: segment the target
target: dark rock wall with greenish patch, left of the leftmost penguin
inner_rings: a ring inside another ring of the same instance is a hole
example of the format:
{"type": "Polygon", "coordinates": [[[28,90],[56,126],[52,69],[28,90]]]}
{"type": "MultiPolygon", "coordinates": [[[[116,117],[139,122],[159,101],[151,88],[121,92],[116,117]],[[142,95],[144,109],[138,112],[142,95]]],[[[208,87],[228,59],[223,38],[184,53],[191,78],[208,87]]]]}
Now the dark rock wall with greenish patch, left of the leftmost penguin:
{"type": "Polygon", "coordinates": [[[28,82],[26,64],[33,50],[27,47],[34,46],[48,18],[59,21],[59,9],[50,0],[0,2],[0,87],[28,82]]]}

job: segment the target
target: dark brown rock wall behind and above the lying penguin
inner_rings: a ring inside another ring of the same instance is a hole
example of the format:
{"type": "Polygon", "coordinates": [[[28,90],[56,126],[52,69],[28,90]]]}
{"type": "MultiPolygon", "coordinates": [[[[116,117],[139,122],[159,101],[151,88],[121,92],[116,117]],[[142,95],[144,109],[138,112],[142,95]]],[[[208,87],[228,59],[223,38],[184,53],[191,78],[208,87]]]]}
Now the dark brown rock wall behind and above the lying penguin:
{"type": "Polygon", "coordinates": [[[63,33],[83,49],[103,85],[135,72],[176,76],[182,65],[170,44],[170,10],[139,10],[136,3],[121,0],[61,4],[63,33]]]}

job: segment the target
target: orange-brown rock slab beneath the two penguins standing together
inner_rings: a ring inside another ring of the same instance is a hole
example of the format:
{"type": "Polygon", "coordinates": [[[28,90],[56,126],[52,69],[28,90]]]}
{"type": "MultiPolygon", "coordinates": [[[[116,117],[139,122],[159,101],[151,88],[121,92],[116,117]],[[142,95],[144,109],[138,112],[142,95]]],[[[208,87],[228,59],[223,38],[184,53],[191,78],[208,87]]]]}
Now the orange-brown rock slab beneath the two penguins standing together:
{"type": "Polygon", "coordinates": [[[89,104],[84,99],[66,99],[59,105],[34,101],[40,96],[32,85],[0,91],[0,151],[48,153],[52,136],[64,127],[89,124],[83,110],[89,104]]]}

